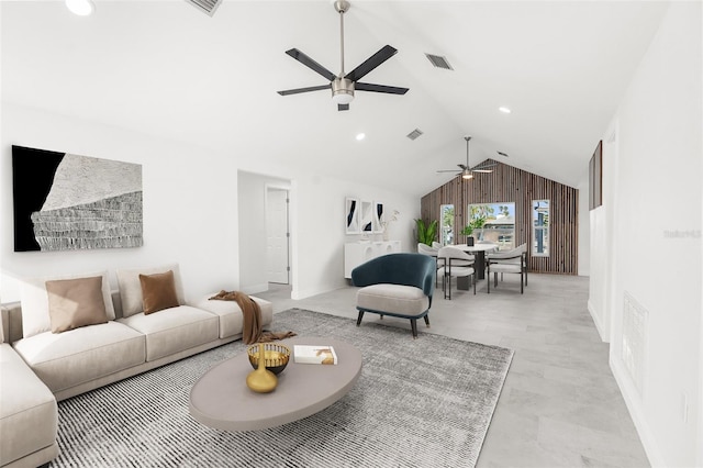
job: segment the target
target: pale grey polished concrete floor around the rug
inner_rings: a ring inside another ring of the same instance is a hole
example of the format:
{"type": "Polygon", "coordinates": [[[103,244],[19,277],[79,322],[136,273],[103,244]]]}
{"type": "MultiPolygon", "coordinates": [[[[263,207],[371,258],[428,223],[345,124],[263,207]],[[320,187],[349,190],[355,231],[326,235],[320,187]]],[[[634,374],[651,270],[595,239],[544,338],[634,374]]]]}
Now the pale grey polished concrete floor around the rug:
{"type": "MultiPolygon", "coordinates": [[[[515,275],[505,275],[490,294],[486,282],[476,296],[455,285],[451,301],[439,288],[432,327],[417,324],[421,332],[515,350],[478,466],[648,467],[607,365],[609,345],[587,310],[588,278],[533,274],[522,296],[515,275]]],[[[271,285],[256,296],[270,300],[275,312],[300,308],[356,317],[355,294],[349,287],[295,301],[289,287],[271,285]]],[[[408,328],[412,339],[409,321],[383,322],[408,328]]]]}

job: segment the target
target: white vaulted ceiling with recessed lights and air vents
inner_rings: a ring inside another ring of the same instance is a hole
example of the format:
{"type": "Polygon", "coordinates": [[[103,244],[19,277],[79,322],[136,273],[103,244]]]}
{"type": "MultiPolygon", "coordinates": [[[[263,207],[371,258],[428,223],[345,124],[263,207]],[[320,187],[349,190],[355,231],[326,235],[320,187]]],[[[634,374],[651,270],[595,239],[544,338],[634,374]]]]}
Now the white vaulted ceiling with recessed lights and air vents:
{"type": "Polygon", "coordinates": [[[357,91],[338,112],[327,91],[276,92],[325,83],[292,47],[339,71],[328,0],[224,0],[213,18],[185,0],[96,3],[79,18],[60,1],[2,1],[3,100],[415,196],[453,177],[436,170],[466,160],[465,135],[471,165],[496,158],[577,186],[667,8],[353,0],[346,70],[390,44],[399,53],[364,81],[410,91],[357,91]]]}

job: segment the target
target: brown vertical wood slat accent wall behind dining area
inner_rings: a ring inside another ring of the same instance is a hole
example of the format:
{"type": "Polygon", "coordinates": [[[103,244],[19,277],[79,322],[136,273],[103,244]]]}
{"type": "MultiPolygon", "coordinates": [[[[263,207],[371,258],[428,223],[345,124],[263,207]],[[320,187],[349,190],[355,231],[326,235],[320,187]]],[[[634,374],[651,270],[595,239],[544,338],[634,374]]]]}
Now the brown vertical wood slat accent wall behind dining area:
{"type": "Polygon", "coordinates": [[[454,204],[456,242],[466,243],[466,237],[456,232],[467,224],[470,203],[514,202],[515,245],[525,242],[531,245],[531,203],[548,199],[549,256],[533,257],[528,249],[529,271],[578,275],[579,191],[500,161],[489,161],[498,165],[492,172],[475,174],[469,181],[455,177],[424,196],[422,219],[426,222],[439,220],[439,207],[454,204]]]}

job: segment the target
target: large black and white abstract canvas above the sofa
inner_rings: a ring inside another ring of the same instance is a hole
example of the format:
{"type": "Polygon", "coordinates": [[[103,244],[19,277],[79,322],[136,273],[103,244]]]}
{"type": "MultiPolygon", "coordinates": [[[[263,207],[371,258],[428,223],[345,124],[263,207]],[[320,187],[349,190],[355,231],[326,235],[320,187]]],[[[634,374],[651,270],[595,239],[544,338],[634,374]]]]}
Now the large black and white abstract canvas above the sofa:
{"type": "Polygon", "coordinates": [[[142,166],[12,146],[14,252],[143,245],[142,166]]]}

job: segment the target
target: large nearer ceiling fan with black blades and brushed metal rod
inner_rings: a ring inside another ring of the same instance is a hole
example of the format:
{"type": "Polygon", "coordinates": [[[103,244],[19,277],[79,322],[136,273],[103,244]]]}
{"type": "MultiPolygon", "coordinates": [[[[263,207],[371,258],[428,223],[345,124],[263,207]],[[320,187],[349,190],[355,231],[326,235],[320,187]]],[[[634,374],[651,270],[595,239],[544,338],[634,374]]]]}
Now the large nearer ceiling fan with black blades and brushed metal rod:
{"type": "Polygon", "coordinates": [[[391,58],[398,49],[391,47],[390,45],[383,46],[379,52],[371,55],[367,58],[361,65],[349,71],[348,74],[344,74],[344,13],[349,11],[349,2],[347,0],[336,0],[334,2],[334,9],[339,13],[339,36],[341,36],[341,51],[342,51],[342,70],[339,75],[335,75],[308,55],[303,54],[297,48],[291,48],[290,51],[286,51],[286,54],[293,57],[295,60],[300,62],[308,68],[316,71],[322,75],[326,79],[330,80],[327,85],[321,86],[312,86],[309,88],[298,88],[298,89],[288,89],[284,91],[278,91],[281,96],[288,94],[298,94],[300,92],[309,92],[309,91],[319,91],[322,89],[331,89],[332,90],[332,100],[337,104],[337,110],[339,111],[348,111],[349,102],[354,100],[354,91],[373,91],[373,92],[386,92],[390,94],[404,94],[408,92],[408,88],[398,88],[394,86],[384,86],[384,85],[371,85],[368,82],[360,82],[359,80],[364,78],[369,71],[373,70],[376,67],[381,65],[383,62],[391,58]]]}

